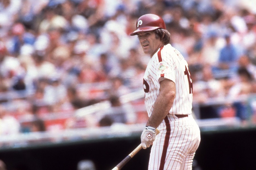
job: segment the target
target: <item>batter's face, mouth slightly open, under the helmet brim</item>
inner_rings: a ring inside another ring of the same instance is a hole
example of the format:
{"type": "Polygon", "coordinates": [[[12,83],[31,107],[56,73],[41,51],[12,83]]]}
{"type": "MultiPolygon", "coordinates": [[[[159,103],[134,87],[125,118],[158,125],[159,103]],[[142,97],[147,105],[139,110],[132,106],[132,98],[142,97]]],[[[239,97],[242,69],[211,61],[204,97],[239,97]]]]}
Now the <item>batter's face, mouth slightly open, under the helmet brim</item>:
{"type": "Polygon", "coordinates": [[[151,57],[163,46],[159,38],[156,38],[154,31],[139,32],[138,38],[145,54],[151,57]]]}

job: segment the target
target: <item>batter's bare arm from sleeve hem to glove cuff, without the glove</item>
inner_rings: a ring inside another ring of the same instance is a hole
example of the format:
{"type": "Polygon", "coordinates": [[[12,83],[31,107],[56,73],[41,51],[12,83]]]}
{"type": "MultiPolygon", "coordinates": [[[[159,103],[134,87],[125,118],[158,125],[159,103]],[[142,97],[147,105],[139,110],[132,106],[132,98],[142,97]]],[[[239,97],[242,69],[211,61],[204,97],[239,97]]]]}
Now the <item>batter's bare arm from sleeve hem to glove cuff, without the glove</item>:
{"type": "Polygon", "coordinates": [[[157,128],[169,113],[176,96],[175,83],[170,79],[160,81],[160,94],[154,104],[154,110],[146,126],[157,128]]]}

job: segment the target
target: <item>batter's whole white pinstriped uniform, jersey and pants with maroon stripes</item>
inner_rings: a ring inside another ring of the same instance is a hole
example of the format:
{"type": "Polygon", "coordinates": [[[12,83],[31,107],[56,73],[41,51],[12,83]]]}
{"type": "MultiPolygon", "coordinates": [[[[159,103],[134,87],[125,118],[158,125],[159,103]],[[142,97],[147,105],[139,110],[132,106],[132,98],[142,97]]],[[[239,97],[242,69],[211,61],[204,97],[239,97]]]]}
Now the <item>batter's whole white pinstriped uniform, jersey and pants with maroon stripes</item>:
{"type": "Polygon", "coordinates": [[[162,46],[150,59],[144,77],[145,105],[148,116],[159,95],[160,81],[175,83],[176,97],[169,114],[158,126],[160,133],[152,145],[148,170],[192,170],[200,143],[200,129],[192,112],[192,80],[187,61],[171,44],[162,46]],[[177,114],[188,114],[178,118],[177,114]]]}

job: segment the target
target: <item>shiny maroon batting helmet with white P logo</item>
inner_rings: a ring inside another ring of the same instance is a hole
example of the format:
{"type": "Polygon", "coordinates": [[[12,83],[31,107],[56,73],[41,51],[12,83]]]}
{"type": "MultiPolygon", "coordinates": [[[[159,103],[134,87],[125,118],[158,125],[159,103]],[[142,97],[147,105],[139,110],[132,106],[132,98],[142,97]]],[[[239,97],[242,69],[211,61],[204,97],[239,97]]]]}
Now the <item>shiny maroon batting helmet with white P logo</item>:
{"type": "Polygon", "coordinates": [[[153,31],[158,28],[166,29],[164,20],[155,14],[145,14],[141,16],[136,22],[136,30],[130,35],[137,35],[141,31],[153,31]]]}

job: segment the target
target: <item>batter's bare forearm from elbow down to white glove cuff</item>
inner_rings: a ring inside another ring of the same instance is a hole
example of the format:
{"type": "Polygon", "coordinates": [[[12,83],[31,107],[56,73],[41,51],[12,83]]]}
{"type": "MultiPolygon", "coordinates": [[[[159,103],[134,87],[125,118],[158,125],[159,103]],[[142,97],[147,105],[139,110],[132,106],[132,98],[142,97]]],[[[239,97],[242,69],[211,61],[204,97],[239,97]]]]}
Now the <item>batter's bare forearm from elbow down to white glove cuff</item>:
{"type": "Polygon", "coordinates": [[[166,115],[169,113],[173,105],[174,98],[175,93],[173,92],[160,93],[160,95],[156,99],[156,102],[154,104],[154,110],[149,117],[146,126],[152,126],[154,128],[157,128],[164,120],[166,115]]]}

